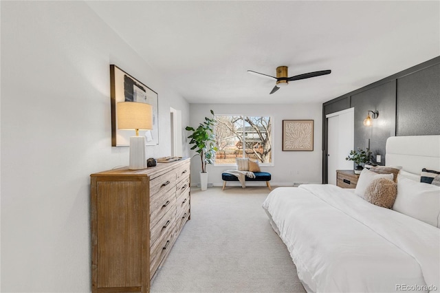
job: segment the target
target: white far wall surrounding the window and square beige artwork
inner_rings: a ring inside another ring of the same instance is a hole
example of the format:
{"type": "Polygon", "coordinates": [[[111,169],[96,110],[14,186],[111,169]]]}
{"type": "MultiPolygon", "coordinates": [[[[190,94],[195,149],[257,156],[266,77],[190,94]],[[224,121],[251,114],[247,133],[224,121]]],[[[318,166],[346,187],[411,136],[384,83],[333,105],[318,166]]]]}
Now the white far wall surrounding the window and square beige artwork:
{"type": "MultiPolygon", "coordinates": [[[[274,166],[262,166],[261,171],[272,174],[271,184],[276,186],[292,186],[294,182],[322,182],[322,104],[294,105],[210,105],[190,104],[190,126],[197,127],[206,116],[210,117],[210,109],[216,114],[243,114],[247,116],[272,116],[274,122],[273,161],[274,166]],[[314,151],[282,151],[283,120],[312,119],[314,120],[314,151]]],[[[185,131],[188,136],[188,131],[185,131]]],[[[194,153],[192,153],[194,154],[194,153]]],[[[221,173],[232,169],[231,166],[208,165],[208,183],[214,186],[223,185],[221,173]]],[[[191,162],[192,186],[200,182],[198,173],[201,171],[199,157],[191,162]]],[[[232,185],[232,182],[228,183],[232,185]]],[[[265,185],[259,183],[258,185],[265,185]]]]}

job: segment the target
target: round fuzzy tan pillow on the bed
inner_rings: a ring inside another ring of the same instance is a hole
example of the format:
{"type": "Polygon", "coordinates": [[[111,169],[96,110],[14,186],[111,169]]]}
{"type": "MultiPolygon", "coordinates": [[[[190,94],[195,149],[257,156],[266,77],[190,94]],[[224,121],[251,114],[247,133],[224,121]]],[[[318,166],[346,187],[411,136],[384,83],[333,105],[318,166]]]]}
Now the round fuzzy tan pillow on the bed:
{"type": "Polygon", "coordinates": [[[393,180],[377,178],[365,190],[365,200],[383,208],[393,208],[397,197],[397,184],[393,180]]]}

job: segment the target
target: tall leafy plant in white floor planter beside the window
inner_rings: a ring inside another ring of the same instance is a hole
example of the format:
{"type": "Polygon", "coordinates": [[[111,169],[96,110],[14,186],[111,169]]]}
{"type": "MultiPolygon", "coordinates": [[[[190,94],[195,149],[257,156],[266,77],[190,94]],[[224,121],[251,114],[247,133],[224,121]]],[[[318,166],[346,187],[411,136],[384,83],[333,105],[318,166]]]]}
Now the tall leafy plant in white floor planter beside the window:
{"type": "Polygon", "coordinates": [[[214,132],[212,127],[215,124],[214,111],[210,110],[212,118],[205,117],[205,121],[199,124],[197,129],[187,126],[187,131],[192,131],[190,138],[190,144],[194,144],[191,149],[194,149],[201,160],[201,172],[200,172],[200,186],[202,191],[206,191],[208,188],[208,172],[206,172],[206,164],[214,164],[215,152],[217,146],[214,144],[214,132]]]}

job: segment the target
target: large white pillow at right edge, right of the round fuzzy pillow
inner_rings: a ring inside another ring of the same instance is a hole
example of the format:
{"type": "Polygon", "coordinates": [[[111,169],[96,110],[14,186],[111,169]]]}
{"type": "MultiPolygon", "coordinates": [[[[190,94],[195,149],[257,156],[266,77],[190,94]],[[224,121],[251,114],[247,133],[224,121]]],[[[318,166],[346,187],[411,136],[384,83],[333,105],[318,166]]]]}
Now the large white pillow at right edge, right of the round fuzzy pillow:
{"type": "Polygon", "coordinates": [[[398,175],[393,210],[440,228],[440,187],[398,175]]]}

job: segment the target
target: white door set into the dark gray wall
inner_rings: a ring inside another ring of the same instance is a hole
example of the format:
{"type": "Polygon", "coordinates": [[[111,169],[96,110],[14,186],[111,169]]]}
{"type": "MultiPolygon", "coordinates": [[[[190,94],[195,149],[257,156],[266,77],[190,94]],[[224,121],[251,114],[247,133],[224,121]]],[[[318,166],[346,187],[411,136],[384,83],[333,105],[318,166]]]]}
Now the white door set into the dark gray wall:
{"type": "Polygon", "coordinates": [[[336,170],[351,170],[353,162],[345,160],[354,146],[354,108],[326,116],[329,125],[327,152],[328,182],[336,185],[336,170]]]}

